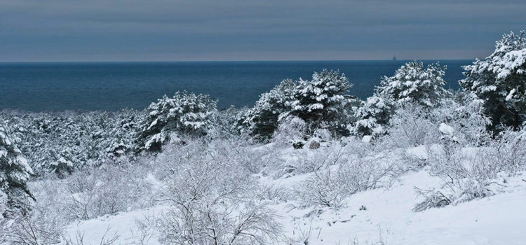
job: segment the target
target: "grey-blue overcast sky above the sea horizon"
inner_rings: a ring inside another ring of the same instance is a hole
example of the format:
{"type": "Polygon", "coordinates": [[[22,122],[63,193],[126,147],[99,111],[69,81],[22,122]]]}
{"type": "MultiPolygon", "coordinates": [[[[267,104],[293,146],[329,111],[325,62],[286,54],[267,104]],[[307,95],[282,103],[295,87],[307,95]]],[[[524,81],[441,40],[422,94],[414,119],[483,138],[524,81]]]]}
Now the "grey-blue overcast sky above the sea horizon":
{"type": "Polygon", "coordinates": [[[473,59],[525,0],[0,0],[0,62],[473,59]]]}

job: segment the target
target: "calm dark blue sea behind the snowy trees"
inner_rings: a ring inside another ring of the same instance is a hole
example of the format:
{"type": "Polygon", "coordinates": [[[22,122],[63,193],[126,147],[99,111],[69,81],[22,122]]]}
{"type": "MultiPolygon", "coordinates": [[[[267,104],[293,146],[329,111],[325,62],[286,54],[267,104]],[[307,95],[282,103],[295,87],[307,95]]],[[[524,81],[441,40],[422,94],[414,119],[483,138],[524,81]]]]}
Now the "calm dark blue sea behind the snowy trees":
{"type": "MultiPolygon", "coordinates": [[[[177,90],[210,94],[217,106],[252,106],[259,94],[285,78],[311,78],[313,71],[339,69],[354,84],[351,94],[370,96],[382,76],[407,61],[323,62],[95,62],[0,63],[0,110],[144,109],[177,90]]],[[[429,64],[434,61],[424,61],[429,64]]],[[[461,66],[443,60],[446,87],[457,89],[461,66]]]]}

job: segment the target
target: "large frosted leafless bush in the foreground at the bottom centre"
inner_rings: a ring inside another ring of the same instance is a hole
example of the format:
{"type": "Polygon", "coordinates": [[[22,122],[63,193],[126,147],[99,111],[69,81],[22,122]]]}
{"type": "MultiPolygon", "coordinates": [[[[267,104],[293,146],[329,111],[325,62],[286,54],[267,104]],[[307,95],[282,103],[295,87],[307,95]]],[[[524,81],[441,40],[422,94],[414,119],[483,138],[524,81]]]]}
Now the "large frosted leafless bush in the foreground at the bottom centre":
{"type": "Polygon", "coordinates": [[[170,208],[159,220],[164,244],[272,244],[281,238],[277,216],[253,198],[257,186],[238,162],[220,155],[165,158],[162,197],[170,208]],[[170,167],[171,166],[171,167],[170,167]]]}

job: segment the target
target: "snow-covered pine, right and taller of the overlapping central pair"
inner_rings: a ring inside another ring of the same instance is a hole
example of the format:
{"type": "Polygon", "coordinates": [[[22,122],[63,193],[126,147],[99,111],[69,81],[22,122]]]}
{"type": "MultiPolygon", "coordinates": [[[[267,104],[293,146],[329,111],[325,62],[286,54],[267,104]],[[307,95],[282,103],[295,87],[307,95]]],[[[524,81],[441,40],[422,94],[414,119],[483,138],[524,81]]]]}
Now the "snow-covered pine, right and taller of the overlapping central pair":
{"type": "Polygon", "coordinates": [[[312,80],[299,80],[290,114],[302,118],[313,132],[327,127],[332,134],[348,135],[352,104],[347,92],[352,87],[344,73],[323,69],[312,80]]]}

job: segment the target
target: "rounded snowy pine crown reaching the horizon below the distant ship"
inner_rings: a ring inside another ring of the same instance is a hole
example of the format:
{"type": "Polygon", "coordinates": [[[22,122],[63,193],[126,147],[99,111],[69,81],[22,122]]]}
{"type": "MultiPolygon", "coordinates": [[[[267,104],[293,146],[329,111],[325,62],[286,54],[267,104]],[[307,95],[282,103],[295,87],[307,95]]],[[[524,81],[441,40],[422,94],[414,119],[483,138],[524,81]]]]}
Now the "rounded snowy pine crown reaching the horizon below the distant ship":
{"type": "Polygon", "coordinates": [[[396,106],[416,104],[424,107],[438,105],[447,91],[443,88],[445,66],[429,64],[424,69],[422,62],[409,62],[400,66],[394,76],[384,76],[377,94],[391,97],[396,106]]]}

